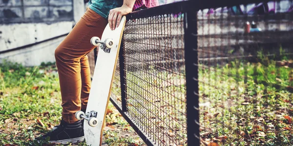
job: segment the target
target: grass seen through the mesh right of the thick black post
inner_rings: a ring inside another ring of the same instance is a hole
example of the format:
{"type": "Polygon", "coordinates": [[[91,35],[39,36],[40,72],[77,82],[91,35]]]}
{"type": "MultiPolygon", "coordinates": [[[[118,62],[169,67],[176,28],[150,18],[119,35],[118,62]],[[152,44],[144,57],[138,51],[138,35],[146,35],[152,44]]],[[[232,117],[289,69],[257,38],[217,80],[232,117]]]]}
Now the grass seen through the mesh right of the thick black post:
{"type": "Polygon", "coordinates": [[[200,103],[207,103],[200,116],[204,144],[293,145],[293,69],[261,60],[200,69],[200,103]]]}

